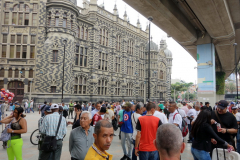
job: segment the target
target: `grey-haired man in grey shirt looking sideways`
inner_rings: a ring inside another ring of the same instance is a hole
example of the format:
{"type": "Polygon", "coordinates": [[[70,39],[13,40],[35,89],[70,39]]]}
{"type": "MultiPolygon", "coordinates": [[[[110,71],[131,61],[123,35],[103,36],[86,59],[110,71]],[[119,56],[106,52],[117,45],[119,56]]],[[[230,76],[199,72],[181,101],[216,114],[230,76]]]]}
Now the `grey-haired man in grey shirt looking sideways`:
{"type": "Polygon", "coordinates": [[[90,126],[91,113],[83,111],[80,118],[80,127],[73,129],[69,138],[69,152],[71,160],[84,160],[88,149],[94,142],[94,128],[90,126]]]}

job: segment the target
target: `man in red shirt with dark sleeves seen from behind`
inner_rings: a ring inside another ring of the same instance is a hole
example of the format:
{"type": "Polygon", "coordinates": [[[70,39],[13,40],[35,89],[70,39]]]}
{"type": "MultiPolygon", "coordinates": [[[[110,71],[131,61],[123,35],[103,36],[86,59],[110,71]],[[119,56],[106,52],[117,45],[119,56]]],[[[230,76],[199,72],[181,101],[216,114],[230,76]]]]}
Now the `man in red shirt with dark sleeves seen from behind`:
{"type": "Polygon", "coordinates": [[[146,106],[147,114],[138,118],[135,154],[139,155],[140,160],[159,160],[159,154],[153,142],[162,122],[158,117],[153,116],[155,107],[156,104],[149,102],[146,106]]]}

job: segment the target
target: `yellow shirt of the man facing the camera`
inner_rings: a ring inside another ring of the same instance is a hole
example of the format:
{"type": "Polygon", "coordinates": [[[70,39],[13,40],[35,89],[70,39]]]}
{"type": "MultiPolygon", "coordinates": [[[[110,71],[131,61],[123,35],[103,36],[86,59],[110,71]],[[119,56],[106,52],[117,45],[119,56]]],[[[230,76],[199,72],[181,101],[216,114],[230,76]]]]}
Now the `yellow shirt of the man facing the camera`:
{"type": "Polygon", "coordinates": [[[112,157],[113,156],[111,154],[100,151],[95,143],[93,143],[93,145],[89,148],[84,160],[112,160],[112,157]]]}

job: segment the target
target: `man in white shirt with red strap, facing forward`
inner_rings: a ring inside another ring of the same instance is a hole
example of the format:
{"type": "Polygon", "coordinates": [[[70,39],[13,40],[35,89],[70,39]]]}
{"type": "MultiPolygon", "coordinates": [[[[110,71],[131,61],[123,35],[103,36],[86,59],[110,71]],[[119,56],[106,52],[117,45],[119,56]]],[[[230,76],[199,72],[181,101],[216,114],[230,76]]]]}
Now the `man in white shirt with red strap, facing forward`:
{"type": "Polygon", "coordinates": [[[174,124],[174,125],[178,126],[179,129],[181,129],[182,128],[182,116],[178,113],[175,102],[170,102],[168,111],[170,112],[168,123],[174,124]]]}

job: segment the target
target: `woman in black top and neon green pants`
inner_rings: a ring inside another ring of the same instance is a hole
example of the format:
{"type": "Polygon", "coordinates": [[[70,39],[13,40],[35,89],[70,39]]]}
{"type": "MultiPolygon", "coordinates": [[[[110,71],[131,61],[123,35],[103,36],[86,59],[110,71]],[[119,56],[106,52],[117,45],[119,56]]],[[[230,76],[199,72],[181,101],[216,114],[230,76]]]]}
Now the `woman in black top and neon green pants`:
{"type": "Polygon", "coordinates": [[[24,118],[23,108],[17,107],[13,111],[13,115],[4,118],[1,123],[9,124],[11,122],[11,128],[7,130],[11,133],[11,139],[7,142],[7,155],[9,160],[22,160],[22,146],[23,140],[21,135],[27,133],[27,121],[24,118]]]}

